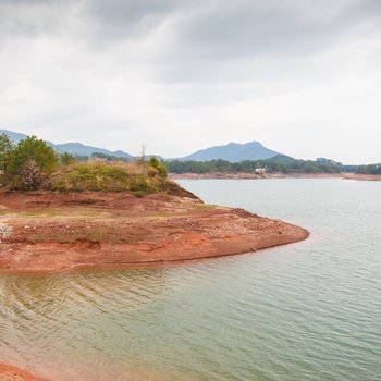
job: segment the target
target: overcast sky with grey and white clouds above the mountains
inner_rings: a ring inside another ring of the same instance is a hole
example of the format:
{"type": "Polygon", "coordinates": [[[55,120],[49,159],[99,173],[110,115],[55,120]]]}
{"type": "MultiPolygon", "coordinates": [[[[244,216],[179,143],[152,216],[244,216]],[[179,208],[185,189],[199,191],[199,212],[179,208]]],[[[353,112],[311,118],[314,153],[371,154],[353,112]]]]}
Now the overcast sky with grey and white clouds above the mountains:
{"type": "Polygon", "coordinates": [[[0,128],[381,162],[381,1],[0,0],[0,128]]]}

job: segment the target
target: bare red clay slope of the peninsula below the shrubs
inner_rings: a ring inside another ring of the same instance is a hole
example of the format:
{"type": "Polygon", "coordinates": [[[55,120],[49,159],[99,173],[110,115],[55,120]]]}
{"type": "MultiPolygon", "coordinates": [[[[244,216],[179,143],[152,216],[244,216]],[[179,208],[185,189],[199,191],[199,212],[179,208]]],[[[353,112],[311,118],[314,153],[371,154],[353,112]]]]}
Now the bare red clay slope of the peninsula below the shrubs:
{"type": "Polygon", "coordinates": [[[156,194],[0,193],[0,270],[63,271],[256,251],[302,228],[243,209],[156,194]]]}

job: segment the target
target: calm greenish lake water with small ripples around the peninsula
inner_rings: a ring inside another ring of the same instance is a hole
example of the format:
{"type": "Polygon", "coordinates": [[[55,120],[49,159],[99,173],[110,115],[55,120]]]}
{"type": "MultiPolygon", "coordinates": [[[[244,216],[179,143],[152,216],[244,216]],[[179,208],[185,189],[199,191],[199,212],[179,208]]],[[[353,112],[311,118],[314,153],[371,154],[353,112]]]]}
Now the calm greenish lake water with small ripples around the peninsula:
{"type": "Polygon", "coordinates": [[[0,357],[54,380],[381,379],[381,182],[181,184],[311,236],[186,265],[0,275],[0,357]]]}

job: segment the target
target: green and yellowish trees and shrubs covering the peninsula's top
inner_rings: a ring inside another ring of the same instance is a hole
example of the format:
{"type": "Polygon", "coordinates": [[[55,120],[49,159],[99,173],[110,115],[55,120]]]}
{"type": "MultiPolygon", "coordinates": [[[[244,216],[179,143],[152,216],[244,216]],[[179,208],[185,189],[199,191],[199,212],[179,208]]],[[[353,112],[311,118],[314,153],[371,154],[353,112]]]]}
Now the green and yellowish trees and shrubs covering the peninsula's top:
{"type": "Polygon", "coordinates": [[[180,192],[155,157],[138,163],[94,158],[78,162],[70,153],[56,153],[36,136],[13,146],[5,134],[0,135],[0,170],[1,185],[10,189],[131,192],[137,196],[180,192]]]}

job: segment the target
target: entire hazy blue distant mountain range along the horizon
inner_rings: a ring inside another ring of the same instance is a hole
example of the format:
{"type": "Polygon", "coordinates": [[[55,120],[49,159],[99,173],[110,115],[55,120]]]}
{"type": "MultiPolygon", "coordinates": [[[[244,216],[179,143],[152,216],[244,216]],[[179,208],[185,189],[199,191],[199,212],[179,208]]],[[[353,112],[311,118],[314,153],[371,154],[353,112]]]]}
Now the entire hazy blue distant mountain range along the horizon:
{"type": "MultiPolygon", "coordinates": [[[[0,134],[7,134],[14,144],[17,144],[21,139],[27,137],[26,134],[15,133],[13,131],[0,130],[0,134]]],[[[77,156],[91,156],[93,153],[105,153],[110,156],[115,156],[120,158],[134,158],[134,156],[118,150],[110,151],[100,147],[86,146],[82,143],[64,143],[54,144],[47,142],[58,153],[69,152],[77,156]]],[[[216,146],[206,149],[201,149],[192,155],[185,156],[183,158],[168,159],[168,160],[179,160],[179,161],[209,161],[209,160],[226,160],[230,162],[241,162],[244,160],[263,160],[270,159],[279,155],[279,152],[273,151],[267,147],[263,147],[259,142],[250,142],[245,144],[239,143],[229,143],[225,146],[216,146]]],[[[160,157],[158,157],[160,158],[160,157]]]]}

